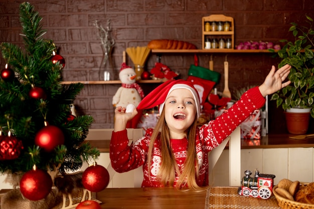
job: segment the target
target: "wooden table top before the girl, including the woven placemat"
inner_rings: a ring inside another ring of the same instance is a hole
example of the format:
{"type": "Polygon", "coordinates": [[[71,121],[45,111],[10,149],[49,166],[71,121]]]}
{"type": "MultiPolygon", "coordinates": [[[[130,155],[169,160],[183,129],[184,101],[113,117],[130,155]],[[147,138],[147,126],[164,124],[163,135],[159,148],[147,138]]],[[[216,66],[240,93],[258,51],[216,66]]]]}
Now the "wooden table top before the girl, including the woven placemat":
{"type": "MultiPolygon", "coordinates": [[[[2,189],[0,194],[8,191],[10,189],[2,189]]],[[[204,191],[183,191],[173,187],[105,188],[93,198],[101,202],[103,209],[280,208],[273,195],[268,199],[242,196],[238,194],[238,187],[211,187],[204,191]]]]}

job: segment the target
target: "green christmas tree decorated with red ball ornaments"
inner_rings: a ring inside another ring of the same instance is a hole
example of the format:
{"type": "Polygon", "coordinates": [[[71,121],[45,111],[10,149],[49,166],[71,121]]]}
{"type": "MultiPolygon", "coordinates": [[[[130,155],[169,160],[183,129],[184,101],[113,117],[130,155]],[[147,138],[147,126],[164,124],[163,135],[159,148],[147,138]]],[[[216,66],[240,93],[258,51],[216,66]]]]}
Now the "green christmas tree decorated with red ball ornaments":
{"type": "Polygon", "coordinates": [[[71,114],[84,86],[61,84],[65,62],[43,38],[41,20],[32,5],[21,4],[24,46],[1,44],[7,67],[0,80],[0,173],[24,173],[34,165],[66,173],[99,156],[84,142],[93,118],[71,114]]]}

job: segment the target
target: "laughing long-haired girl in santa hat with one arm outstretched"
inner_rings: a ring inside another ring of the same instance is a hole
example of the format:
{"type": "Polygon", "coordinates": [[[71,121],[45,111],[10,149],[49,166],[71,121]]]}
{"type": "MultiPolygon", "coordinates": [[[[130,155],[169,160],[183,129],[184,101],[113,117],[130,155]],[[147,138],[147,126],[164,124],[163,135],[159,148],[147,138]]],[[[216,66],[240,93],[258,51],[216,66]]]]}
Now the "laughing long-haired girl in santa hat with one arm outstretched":
{"type": "Polygon", "coordinates": [[[194,190],[208,186],[208,152],[218,146],[250,114],[261,108],[265,96],[290,84],[291,66],[275,72],[272,66],[264,83],[245,92],[227,112],[201,127],[200,98],[193,84],[184,80],[167,81],[151,91],[137,109],[159,105],[160,119],[154,129],[128,146],[126,123],[137,111],[115,109],[110,142],[110,160],[117,172],[143,166],[142,187],[174,186],[194,190]]]}

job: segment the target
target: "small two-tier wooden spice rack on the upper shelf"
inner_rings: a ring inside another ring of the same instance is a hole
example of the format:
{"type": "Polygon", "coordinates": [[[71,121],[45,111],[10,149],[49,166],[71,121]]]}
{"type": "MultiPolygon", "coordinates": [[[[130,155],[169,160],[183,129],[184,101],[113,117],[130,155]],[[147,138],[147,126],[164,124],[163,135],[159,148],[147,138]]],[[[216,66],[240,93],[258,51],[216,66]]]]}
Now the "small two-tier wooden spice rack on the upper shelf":
{"type": "MultiPolygon", "coordinates": [[[[233,18],[232,17],[227,17],[227,16],[224,16],[224,15],[210,15],[210,16],[207,16],[207,17],[203,17],[202,18],[202,49],[203,50],[217,50],[216,49],[213,49],[212,47],[210,49],[206,49],[205,48],[205,41],[206,41],[206,37],[209,36],[210,38],[214,39],[214,38],[224,38],[224,37],[227,37],[227,38],[231,38],[231,49],[234,49],[234,22],[233,22],[233,18]],[[229,30],[228,31],[225,31],[224,29],[224,26],[223,26],[223,29],[222,31],[213,31],[211,30],[211,27],[210,27],[210,31],[208,30],[205,30],[205,24],[207,22],[215,22],[215,23],[218,23],[218,22],[222,22],[222,23],[225,23],[225,22],[229,22],[230,26],[229,26],[229,30]]],[[[226,48],[224,48],[226,49],[226,48]]],[[[221,49],[221,50],[224,50],[224,49],[221,49]]],[[[230,50],[229,49],[226,49],[226,50],[230,50]]]]}

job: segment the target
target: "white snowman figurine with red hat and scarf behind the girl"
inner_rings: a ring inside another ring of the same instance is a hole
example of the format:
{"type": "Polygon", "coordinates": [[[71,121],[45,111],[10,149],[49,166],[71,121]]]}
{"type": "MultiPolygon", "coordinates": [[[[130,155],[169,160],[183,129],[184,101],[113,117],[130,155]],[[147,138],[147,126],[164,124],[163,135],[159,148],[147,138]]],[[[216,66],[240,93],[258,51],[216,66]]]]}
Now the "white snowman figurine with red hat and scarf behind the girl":
{"type": "MultiPolygon", "coordinates": [[[[121,87],[112,98],[112,105],[114,107],[121,106],[127,108],[127,112],[132,111],[133,108],[137,107],[142,98],[144,98],[144,92],[142,88],[135,83],[135,78],[136,74],[134,69],[127,66],[125,63],[122,63],[119,72],[121,87]]],[[[138,111],[137,115],[128,122],[127,128],[137,128],[141,113],[141,111],[138,111]]]]}

